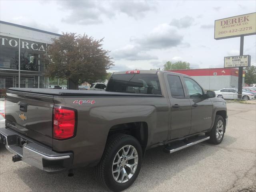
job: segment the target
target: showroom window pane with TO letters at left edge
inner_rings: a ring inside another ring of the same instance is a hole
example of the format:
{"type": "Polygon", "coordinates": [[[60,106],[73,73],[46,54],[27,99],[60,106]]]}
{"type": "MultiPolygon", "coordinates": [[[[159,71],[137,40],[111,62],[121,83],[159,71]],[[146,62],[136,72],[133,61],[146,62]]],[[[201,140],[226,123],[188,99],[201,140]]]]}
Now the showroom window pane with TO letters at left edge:
{"type": "Polygon", "coordinates": [[[19,39],[0,36],[0,68],[19,69],[19,39]]]}

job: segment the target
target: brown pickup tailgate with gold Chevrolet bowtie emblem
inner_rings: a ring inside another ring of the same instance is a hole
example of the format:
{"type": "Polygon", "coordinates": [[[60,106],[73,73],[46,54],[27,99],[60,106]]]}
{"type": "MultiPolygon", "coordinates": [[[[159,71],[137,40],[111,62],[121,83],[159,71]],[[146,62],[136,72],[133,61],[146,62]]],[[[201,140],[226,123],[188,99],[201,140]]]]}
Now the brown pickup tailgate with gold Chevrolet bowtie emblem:
{"type": "Polygon", "coordinates": [[[6,126],[52,147],[53,96],[8,90],[6,126]]]}

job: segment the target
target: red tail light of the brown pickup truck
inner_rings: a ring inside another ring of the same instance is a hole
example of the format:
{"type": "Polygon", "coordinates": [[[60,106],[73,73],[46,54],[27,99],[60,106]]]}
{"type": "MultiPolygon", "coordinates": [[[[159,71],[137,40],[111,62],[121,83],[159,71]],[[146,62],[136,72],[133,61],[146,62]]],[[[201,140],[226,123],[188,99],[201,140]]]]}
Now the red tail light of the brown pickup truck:
{"type": "Polygon", "coordinates": [[[63,107],[53,108],[53,138],[68,139],[74,136],[76,112],[63,107]]]}

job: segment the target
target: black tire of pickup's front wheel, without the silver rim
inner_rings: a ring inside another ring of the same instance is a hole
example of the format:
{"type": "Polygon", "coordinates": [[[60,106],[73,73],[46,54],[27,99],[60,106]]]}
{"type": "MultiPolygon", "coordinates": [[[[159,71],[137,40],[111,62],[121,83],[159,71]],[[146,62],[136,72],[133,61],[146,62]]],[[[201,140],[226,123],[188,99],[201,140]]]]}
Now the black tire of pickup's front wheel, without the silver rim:
{"type": "Polygon", "coordinates": [[[209,133],[206,134],[206,135],[210,136],[210,139],[208,140],[208,142],[211,143],[211,144],[214,144],[214,145],[220,144],[222,142],[223,138],[224,138],[225,126],[226,125],[225,125],[225,121],[224,121],[223,117],[220,116],[220,115],[216,115],[212,130],[209,133]],[[223,134],[222,134],[222,137],[220,139],[217,139],[216,128],[217,128],[217,124],[220,120],[222,121],[222,124],[223,124],[223,134]]]}

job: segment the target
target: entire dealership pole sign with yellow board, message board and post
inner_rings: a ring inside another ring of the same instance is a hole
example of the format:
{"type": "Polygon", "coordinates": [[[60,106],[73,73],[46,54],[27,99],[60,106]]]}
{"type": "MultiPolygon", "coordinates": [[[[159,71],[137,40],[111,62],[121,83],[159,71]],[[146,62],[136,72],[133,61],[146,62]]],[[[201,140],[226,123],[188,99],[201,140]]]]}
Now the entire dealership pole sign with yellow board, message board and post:
{"type": "Polygon", "coordinates": [[[250,66],[250,56],[244,55],[244,36],[256,34],[256,13],[215,20],[214,39],[240,37],[240,55],[224,57],[224,67],[238,67],[238,98],[242,98],[243,68],[250,66]]]}

